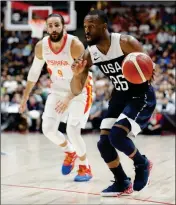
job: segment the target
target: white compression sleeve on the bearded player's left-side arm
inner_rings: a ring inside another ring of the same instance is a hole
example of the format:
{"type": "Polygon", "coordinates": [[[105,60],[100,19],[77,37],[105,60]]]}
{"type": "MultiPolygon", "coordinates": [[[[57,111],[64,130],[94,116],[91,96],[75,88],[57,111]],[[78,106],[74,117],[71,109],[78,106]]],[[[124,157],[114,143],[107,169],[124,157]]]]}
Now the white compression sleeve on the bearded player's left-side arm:
{"type": "Polygon", "coordinates": [[[44,60],[40,60],[35,56],[29,70],[27,80],[36,83],[39,79],[44,64],[44,60]]]}

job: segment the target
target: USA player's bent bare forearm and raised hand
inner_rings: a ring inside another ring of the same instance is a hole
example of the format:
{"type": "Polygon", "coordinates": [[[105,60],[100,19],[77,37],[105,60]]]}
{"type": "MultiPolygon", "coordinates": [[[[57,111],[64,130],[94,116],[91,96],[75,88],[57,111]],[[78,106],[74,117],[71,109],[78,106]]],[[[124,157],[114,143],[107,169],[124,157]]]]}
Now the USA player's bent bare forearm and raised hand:
{"type": "Polygon", "coordinates": [[[89,68],[92,66],[92,61],[88,49],[82,54],[72,65],[73,78],[70,86],[74,95],[79,95],[85,84],[89,73],[89,68]]]}

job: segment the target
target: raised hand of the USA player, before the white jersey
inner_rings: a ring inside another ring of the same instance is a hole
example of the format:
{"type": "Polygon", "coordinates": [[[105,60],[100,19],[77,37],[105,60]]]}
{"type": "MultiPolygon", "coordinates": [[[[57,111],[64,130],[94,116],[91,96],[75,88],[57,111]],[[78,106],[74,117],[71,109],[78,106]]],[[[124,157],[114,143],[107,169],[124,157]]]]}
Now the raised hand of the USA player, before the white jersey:
{"type": "Polygon", "coordinates": [[[87,64],[87,60],[83,60],[82,58],[78,58],[74,61],[71,68],[74,75],[79,75],[84,71],[84,68],[87,64]]]}

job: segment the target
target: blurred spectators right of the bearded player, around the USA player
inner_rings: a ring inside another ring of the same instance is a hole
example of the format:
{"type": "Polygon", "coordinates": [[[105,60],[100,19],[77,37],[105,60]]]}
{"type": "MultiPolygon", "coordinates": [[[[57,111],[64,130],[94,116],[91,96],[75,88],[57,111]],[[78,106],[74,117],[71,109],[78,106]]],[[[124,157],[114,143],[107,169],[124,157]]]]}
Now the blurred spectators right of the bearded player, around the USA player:
{"type": "MultiPolygon", "coordinates": [[[[157,106],[148,128],[149,131],[160,130],[164,118],[162,114],[175,115],[175,8],[116,7],[115,2],[99,2],[94,8],[97,7],[108,14],[111,31],[136,37],[157,64],[153,82],[157,106]]],[[[98,68],[93,67],[93,71],[96,95],[89,119],[97,129],[106,113],[112,85],[98,68]]],[[[173,121],[173,118],[170,118],[170,122],[173,121]]]]}

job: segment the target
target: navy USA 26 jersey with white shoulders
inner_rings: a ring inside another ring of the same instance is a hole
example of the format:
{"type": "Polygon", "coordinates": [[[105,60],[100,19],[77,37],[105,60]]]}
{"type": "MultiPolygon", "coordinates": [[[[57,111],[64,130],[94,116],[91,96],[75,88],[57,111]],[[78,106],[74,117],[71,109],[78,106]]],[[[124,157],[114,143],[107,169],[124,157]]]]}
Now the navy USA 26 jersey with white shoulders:
{"type": "Polygon", "coordinates": [[[102,73],[111,80],[114,89],[120,96],[139,96],[148,90],[148,82],[132,84],[123,76],[121,65],[125,55],[120,47],[119,33],[111,34],[111,45],[106,55],[101,53],[96,45],[90,46],[88,49],[93,64],[97,65],[102,73]]]}

